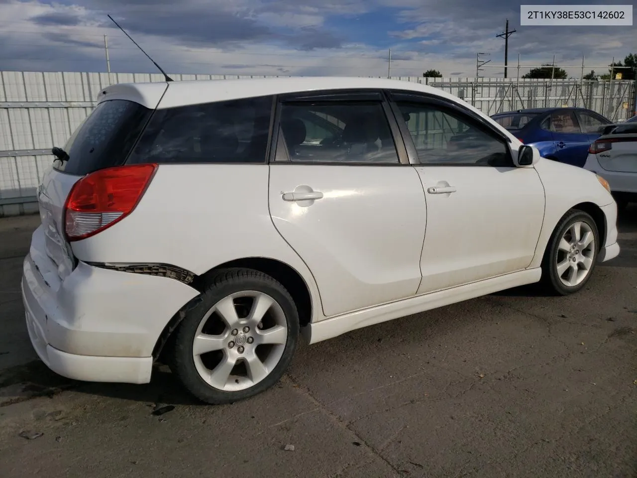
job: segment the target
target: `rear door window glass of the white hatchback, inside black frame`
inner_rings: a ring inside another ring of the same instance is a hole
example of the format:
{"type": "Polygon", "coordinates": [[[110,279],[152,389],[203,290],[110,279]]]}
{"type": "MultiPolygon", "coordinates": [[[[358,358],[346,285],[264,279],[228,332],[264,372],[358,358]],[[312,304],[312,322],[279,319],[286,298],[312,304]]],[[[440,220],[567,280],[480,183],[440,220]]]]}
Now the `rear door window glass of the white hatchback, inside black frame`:
{"type": "Polygon", "coordinates": [[[382,103],[283,103],[281,129],[290,161],[398,163],[382,103]]]}

